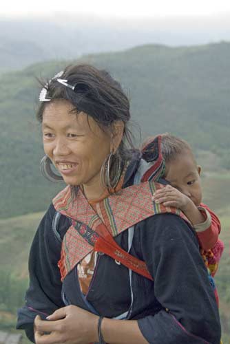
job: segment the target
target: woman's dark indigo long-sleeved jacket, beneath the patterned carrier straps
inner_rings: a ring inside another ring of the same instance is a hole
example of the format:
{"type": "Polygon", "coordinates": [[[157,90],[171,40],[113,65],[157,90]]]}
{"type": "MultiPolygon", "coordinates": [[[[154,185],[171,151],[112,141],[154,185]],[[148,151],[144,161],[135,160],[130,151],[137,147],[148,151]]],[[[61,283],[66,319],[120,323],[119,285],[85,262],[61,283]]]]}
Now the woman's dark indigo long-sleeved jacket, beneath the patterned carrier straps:
{"type": "MultiPolygon", "coordinates": [[[[138,160],[125,175],[132,185],[138,160]]],[[[61,283],[57,263],[61,241],[70,219],[56,216],[51,204],[36,231],[30,250],[30,287],[25,305],[18,312],[18,329],[34,341],[36,314],[45,316],[65,305],[113,318],[127,312],[136,319],[143,336],[153,344],[220,344],[220,318],[200,256],[194,230],[177,215],[158,214],[135,225],[130,253],[143,259],[154,281],[107,255],[98,256],[87,296],[81,293],[75,268],[61,283]]],[[[128,230],[114,238],[128,248],[128,230]]],[[[127,343],[129,344],[129,343],[127,343]]]]}

